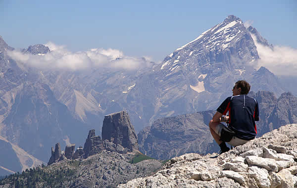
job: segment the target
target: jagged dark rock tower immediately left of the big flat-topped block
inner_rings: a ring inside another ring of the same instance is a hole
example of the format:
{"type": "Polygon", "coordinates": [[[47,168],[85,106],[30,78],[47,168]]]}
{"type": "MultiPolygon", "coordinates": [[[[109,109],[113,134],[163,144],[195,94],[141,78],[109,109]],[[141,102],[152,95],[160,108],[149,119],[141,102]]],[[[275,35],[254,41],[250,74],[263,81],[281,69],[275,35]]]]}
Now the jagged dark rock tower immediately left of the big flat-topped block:
{"type": "Polygon", "coordinates": [[[103,143],[100,136],[95,135],[95,130],[90,130],[88,138],[84,145],[85,158],[90,155],[99,153],[103,149],[103,143]]]}

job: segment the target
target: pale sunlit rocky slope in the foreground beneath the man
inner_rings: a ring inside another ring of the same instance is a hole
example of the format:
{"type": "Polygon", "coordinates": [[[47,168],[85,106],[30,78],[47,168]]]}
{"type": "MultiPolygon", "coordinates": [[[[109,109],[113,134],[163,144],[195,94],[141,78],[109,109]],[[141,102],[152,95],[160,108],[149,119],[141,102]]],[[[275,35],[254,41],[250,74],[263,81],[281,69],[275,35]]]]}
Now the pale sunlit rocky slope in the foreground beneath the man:
{"type": "Polygon", "coordinates": [[[118,187],[293,188],[296,175],[297,124],[290,124],[221,155],[172,158],[153,176],[118,187]]]}

